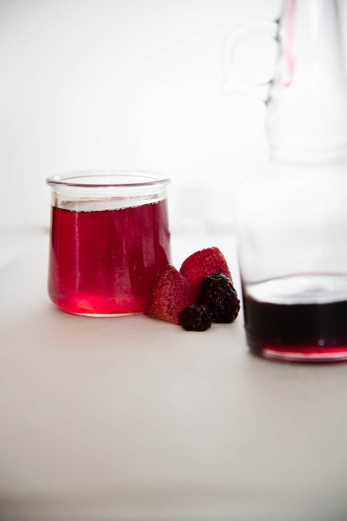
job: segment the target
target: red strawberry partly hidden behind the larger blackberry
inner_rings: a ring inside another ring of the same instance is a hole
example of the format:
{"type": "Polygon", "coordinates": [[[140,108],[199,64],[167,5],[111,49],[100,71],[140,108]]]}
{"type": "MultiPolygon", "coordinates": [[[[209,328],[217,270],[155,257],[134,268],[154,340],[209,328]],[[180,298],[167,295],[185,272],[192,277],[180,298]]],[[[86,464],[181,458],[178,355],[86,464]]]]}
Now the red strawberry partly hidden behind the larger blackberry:
{"type": "Polygon", "coordinates": [[[196,294],[199,293],[202,277],[216,271],[221,271],[232,280],[225,257],[215,246],[193,253],[186,258],[179,270],[196,294]]]}

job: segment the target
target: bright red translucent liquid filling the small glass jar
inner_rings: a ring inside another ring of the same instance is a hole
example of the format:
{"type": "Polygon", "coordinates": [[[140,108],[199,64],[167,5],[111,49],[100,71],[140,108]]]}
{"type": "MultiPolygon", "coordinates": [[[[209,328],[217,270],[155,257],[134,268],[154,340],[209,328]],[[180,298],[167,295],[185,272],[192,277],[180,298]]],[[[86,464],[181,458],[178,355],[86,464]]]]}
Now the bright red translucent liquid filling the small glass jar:
{"type": "Polygon", "coordinates": [[[166,200],[92,212],[52,208],[48,293],[63,311],[142,313],[153,278],[169,262],[166,200]]]}

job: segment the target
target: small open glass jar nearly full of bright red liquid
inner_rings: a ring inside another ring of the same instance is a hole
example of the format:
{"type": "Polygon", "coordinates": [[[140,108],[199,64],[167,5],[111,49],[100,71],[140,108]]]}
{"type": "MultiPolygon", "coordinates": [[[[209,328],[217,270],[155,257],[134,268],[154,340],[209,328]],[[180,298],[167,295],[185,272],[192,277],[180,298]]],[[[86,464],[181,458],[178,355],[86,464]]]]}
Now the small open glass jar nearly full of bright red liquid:
{"type": "Polygon", "coordinates": [[[170,179],[138,171],[85,171],[52,189],[48,294],[85,316],[146,312],[157,271],[170,262],[170,179]]]}

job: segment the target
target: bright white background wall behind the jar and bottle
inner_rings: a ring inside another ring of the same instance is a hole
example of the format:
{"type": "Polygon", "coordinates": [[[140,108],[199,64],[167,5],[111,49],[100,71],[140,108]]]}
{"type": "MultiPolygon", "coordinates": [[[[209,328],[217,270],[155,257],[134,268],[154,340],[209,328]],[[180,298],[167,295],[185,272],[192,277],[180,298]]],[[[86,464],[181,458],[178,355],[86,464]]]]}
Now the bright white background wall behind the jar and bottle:
{"type": "MultiPolygon", "coordinates": [[[[268,150],[264,104],[222,93],[221,48],[279,12],[279,0],[0,0],[0,224],[48,225],[47,176],[126,168],[172,177],[173,231],[229,231],[235,188],[268,150]]],[[[268,42],[254,43],[239,61],[271,67],[268,42]]]]}

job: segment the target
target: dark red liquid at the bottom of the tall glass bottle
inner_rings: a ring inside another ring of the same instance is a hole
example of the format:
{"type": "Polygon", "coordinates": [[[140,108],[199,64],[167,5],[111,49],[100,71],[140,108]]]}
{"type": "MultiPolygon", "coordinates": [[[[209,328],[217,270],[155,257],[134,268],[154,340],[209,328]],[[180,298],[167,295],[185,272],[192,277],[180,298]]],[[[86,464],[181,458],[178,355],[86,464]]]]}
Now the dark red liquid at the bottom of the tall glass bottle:
{"type": "Polygon", "coordinates": [[[347,360],[347,301],[259,302],[243,295],[247,342],[265,358],[293,362],[347,360]]]}

